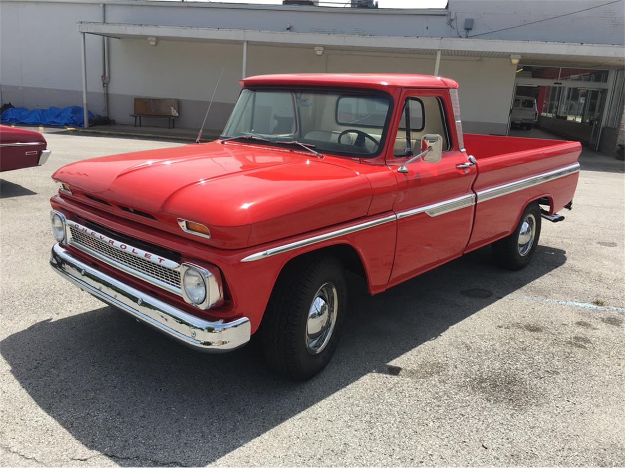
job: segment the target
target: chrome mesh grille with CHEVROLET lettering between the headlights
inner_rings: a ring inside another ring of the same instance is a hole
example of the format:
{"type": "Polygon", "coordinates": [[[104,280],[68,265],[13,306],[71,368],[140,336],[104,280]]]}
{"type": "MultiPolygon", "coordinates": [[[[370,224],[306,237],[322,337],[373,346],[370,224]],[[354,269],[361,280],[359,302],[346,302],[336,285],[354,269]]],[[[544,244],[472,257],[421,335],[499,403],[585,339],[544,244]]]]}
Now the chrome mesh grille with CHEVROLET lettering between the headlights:
{"type": "Polygon", "coordinates": [[[151,261],[144,260],[139,256],[114,248],[108,243],[105,243],[94,236],[90,236],[71,225],[69,226],[69,231],[71,232],[72,243],[78,243],[79,245],[86,246],[87,248],[96,251],[105,258],[108,258],[111,263],[126,266],[129,270],[141,273],[142,275],[148,276],[159,283],[169,285],[176,290],[181,288],[180,272],[178,270],[158,265],[151,261]]]}

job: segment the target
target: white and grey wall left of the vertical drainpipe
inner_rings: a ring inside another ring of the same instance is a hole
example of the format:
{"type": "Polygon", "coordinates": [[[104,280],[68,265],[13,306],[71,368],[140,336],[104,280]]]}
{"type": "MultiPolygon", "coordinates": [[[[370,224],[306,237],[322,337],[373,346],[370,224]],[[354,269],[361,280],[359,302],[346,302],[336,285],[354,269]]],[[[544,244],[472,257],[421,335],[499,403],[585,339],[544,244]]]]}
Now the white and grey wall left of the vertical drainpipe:
{"type": "MultiPolygon", "coordinates": [[[[98,4],[0,2],[2,102],[29,109],[83,105],[80,35],[76,21],[99,21],[98,4]]],[[[102,113],[101,43],[87,37],[89,95],[102,113]]]]}

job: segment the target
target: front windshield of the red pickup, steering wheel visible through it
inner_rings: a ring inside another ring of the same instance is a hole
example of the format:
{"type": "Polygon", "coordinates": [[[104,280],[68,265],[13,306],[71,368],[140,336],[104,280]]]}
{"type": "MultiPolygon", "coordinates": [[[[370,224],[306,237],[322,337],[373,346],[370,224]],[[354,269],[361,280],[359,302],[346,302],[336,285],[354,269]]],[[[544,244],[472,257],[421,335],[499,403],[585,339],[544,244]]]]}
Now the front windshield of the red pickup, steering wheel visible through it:
{"type": "Polygon", "coordinates": [[[382,149],[391,100],[374,91],[244,89],[221,138],[298,142],[326,152],[372,157],[382,149]]]}

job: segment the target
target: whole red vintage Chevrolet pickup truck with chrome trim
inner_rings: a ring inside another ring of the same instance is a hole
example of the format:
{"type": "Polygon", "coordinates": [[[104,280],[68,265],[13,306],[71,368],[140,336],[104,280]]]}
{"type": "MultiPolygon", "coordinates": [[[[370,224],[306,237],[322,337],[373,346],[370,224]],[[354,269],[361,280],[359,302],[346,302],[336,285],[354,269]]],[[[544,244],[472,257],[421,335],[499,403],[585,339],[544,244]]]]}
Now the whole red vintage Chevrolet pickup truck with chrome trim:
{"type": "Polygon", "coordinates": [[[51,265],[196,349],[258,333],[310,378],[334,353],[346,270],[369,293],[492,244],[529,263],[564,217],[577,142],[462,134],[442,77],[289,74],[242,80],[214,142],[107,156],[54,173],[51,265]]]}

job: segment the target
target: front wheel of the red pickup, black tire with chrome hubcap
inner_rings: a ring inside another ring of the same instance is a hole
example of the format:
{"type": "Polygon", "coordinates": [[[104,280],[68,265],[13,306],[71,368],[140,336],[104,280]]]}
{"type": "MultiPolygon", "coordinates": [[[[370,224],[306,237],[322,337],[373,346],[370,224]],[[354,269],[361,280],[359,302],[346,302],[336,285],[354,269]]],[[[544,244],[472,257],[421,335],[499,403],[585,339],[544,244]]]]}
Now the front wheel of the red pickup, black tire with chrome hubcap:
{"type": "Polygon", "coordinates": [[[259,329],[267,363],[296,380],[321,371],[336,349],[346,302],[339,260],[306,255],[289,263],[276,282],[259,329]]]}

